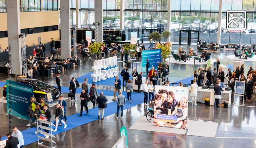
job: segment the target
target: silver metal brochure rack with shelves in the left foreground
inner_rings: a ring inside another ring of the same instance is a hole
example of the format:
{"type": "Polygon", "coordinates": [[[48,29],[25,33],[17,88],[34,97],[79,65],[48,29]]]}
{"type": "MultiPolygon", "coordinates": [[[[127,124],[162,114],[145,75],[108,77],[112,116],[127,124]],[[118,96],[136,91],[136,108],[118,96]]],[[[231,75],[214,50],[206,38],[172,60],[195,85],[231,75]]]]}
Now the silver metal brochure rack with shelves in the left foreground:
{"type": "MultiPolygon", "coordinates": [[[[51,131],[51,133],[45,133],[43,131],[39,131],[37,132],[37,143],[38,143],[38,146],[42,146],[42,147],[46,147],[46,148],[57,148],[57,146],[54,146],[53,147],[53,143],[56,144],[56,142],[53,141],[53,137],[56,138],[52,132],[54,132],[54,130],[52,129],[52,125],[54,125],[52,122],[48,122],[48,121],[44,121],[44,120],[40,120],[40,119],[36,119],[36,128],[38,129],[38,127],[44,129],[44,130],[48,130],[49,132],[51,131]],[[48,125],[49,127],[46,127],[46,126],[42,126],[42,125],[38,125],[38,122],[41,122],[41,123],[44,123],[46,125],[48,125]],[[43,134],[43,135],[46,135],[46,136],[50,136],[50,139],[47,139],[45,137],[41,137],[39,136],[39,133],[43,134]],[[43,142],[39,143],[39,138],[41,140],[44,140],[44,141],[49,141],[51,142],[52,146],[46,146],[46,145],[43,145],[43,142]]],[[[54,125],[55,126],[55,125],[54,125]]]]}

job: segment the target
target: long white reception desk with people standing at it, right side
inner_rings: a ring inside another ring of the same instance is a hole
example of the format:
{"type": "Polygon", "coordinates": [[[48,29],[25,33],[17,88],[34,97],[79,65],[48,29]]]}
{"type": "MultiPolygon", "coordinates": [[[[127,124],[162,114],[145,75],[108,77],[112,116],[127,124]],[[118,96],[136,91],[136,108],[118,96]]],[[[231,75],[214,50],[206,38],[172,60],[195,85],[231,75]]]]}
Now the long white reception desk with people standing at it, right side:
{"type": "MultiPolygon", "coordinates": [[[[214,89],[201,89],[202,87],[199,87],[200,89],[197,90],[197,97],[196,101],[203,102],[204,97],[210,98],[210,105],[214,105],[214,89]]],[[[225,88],[223,88],[224,90],[225,88]]],[[[191,89],[189,88],[189,94],[191,92],[191,89]]],[[[189,95],[190,96],[190,95],[189,95]]],[[[229,91],[221,91],[221,100],[228,101],[228,107],[230,107],[231,104],[231,90],[229,91]]]]}

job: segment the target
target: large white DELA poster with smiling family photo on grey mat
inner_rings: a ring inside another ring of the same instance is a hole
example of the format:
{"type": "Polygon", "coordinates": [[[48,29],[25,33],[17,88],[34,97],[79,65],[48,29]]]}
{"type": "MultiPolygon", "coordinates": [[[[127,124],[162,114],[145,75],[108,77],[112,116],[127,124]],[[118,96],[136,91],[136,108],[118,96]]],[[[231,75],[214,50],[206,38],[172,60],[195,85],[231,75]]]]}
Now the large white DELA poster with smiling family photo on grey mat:
{"type": "Polygon", "coordinates": [[[187,128],[188,87],[155,86],[154,126],[187,128]]]}

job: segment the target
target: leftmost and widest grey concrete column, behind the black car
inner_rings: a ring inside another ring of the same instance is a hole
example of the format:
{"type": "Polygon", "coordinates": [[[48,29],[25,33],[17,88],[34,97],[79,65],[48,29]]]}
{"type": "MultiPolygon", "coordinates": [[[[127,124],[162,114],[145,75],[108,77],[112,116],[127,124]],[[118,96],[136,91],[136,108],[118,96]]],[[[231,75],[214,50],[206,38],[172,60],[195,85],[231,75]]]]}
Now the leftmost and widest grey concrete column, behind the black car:
{"type": "Polygon", "coordinates": [[[22,75],[21,39],[19,38],[19,34],[21,33],[19,1],[7,0],[6,12],[11,73],[22,75]]]}

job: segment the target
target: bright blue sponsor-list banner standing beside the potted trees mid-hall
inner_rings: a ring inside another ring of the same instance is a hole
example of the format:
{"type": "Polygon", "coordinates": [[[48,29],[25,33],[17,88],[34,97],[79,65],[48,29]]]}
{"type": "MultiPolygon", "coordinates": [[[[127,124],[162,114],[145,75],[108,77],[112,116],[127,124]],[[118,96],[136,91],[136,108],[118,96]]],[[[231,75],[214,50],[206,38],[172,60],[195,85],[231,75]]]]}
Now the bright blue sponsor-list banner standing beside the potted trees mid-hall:
{"type": "Polygon", "coordinates": [[[162,49],[142,50],[142,72],[146,71],[147,59],[150,62],[149,70],[152,69],[152,66],[157,70],[158,63],[161,62],[161,54],[162,49]]]}

